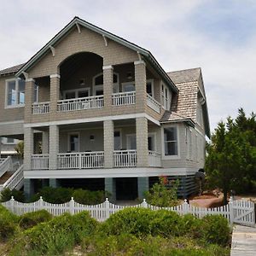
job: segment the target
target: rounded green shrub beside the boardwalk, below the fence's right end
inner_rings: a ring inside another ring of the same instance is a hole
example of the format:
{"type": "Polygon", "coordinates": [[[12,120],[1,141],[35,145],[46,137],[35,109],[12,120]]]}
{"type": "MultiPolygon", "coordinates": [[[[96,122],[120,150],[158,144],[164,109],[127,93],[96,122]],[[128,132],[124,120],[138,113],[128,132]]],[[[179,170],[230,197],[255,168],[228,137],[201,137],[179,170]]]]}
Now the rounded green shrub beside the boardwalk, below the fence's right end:
{"type": "Polygon", "coordinates": [[[219,215],[207,215],[202,218],[204,239],[210,243],[227,246],[230,241],[228,220],[219,215]]]}

